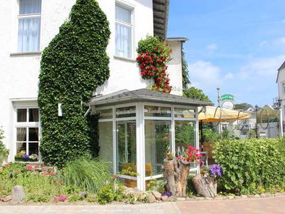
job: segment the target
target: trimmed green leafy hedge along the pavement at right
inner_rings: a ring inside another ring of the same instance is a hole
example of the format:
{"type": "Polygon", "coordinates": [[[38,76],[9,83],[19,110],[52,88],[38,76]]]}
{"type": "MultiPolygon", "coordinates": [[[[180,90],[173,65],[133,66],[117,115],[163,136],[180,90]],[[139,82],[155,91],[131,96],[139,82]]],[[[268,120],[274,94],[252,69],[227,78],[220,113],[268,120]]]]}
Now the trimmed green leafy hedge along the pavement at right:
{"type": "Polygon", "coordinates": [[[214,158],[224,170],[219,185],[229,192],[243,194],[284,185],[284,147],[283,139],[228,140],[216,143],[214,158]]]}

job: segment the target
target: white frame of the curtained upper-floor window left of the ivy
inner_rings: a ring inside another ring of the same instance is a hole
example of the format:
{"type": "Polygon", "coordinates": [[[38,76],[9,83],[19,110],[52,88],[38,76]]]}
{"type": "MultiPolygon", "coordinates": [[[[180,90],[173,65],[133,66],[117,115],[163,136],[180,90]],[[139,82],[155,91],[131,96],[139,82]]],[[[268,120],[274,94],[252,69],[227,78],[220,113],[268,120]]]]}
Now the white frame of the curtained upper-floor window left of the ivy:
{"type": "MultiPolygon", "coordinates": [[[[25,53],[25,52],[39,52],[41,50],[41,13],[38,14],[20,14],[20,1],[18,1],[18,7],[17,7],[17,31],[16,31],[16,52],[18,53],[25,53]],[[39,38],[39,44],[38,44],[38,50],[35,51],[19,51],[18,46],[19,46],[19,21],[20,19],[32,19],[32,18],[40,18],[40,38],[39,38]]],[[[42,11],[42,4],[43,0],[41,0],[41,11],[42,11]]]]}

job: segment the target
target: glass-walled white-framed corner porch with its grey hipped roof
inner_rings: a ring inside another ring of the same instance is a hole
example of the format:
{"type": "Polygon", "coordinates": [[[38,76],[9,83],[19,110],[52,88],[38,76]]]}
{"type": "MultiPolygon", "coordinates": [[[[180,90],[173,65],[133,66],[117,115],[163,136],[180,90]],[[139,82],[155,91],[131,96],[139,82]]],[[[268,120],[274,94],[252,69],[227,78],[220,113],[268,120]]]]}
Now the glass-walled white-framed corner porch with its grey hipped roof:
{"type": "Polygon", "coordinates": [[[145,190],[151,179],[162,178],[167,151],[199,148],[197,106],[206,105],[148,89],[95,96],[90,106],[100,115],[99,155],[113,173],[123,172],[125,185],[145,190]]]}

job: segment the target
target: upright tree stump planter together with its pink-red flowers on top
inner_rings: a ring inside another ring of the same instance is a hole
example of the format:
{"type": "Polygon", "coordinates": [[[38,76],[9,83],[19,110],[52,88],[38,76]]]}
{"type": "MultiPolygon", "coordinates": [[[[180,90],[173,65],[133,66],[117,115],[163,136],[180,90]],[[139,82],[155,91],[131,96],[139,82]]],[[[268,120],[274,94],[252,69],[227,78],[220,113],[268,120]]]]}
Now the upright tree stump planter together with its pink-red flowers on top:
{"type": "Polygon", "coordinates": [[[199,150],[188,146],[176,159],[167,157],[170,158],[165,158],[163,169],[166,191],[177,197],[185,197],[190,164],[199,163],[199,150]]]}

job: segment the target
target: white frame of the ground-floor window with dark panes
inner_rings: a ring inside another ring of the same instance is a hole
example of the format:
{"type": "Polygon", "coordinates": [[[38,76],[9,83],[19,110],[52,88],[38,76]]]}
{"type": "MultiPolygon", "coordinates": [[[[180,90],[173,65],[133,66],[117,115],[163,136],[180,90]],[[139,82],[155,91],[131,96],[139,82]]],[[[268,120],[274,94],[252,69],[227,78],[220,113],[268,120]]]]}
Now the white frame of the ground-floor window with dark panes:
{"type": "MultiPolygon", "coordinates": [[[[30,143],[38,143],[38,162],[41,162],[41,153],[39,151],[40,147],[40,138],[41,138],[41,115],[38,112],[38,122],[28,122],[28,109],[29,108],[38,108],[38,105],[36,101],[19,101],[19,100],[12,100],[12,105],[14,106],[14,127],[13,127],[13,148],[12,148],[12,158],[14,160],[14,157],[17,153],[17,128],[38,128],[38,141],[36,142],[30,142],[30,143]],[[17,122],[17,110],[18,109],[26,109],[27,110],[27,118],[26,122],[17,122]]],[[[28,153],[28,132],[26,132],[26,148],[28,153]]]]}

